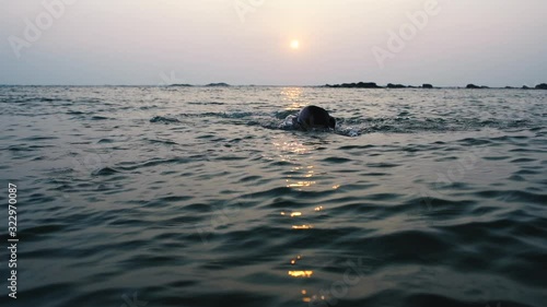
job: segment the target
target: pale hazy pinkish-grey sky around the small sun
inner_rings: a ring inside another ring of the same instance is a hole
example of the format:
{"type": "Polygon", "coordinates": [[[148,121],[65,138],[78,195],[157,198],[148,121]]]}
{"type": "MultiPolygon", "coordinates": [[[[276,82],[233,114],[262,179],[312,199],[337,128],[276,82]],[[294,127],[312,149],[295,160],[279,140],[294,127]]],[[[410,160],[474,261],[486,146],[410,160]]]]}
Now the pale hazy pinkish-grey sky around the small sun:
{"type": "Polygon", "coordinates": [[[546,0],[0,0],[0,84],[536,85],[546,12],[546,0]]]}

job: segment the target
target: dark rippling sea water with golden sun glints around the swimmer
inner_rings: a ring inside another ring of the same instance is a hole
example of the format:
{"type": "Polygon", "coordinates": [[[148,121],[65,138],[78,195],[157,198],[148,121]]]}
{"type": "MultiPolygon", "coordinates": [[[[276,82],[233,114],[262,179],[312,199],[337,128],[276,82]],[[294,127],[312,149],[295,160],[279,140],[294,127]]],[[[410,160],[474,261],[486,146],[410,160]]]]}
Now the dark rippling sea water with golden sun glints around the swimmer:
{"type": "Polygon", "coordinates": [[[0,109],[2,306],[547,304],[545,91],[3,86],[0,109]],[[306,105],[337,129],[291,129],[306,105]]]}

